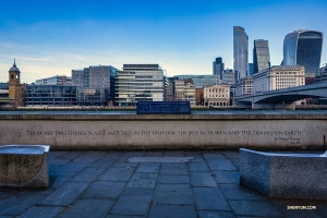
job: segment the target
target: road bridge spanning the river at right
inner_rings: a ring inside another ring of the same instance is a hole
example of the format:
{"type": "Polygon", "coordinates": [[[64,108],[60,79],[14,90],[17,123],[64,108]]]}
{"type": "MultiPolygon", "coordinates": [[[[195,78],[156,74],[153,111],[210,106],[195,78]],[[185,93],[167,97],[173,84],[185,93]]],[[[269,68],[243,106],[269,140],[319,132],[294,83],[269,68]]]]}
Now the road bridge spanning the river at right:
{"type": "Polygon", "coordinates": [[[239,106],[252,106],[252,109],[294,109],[296,100],[319,97],[327,98],[327,83],[255,93],[235,100],[239,106]]]}

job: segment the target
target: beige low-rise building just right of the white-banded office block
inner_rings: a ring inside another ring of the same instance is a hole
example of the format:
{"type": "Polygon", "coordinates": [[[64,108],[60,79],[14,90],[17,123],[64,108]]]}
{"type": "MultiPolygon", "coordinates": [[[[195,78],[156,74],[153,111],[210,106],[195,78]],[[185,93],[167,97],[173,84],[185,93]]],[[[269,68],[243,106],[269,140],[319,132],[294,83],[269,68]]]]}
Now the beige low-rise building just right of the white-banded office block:
{"type": "Polygon", "coordinates": [[[190,105],[196,105],[196,90],[192,78],[174,81],[174,100],[190,101],[190,105]]]}

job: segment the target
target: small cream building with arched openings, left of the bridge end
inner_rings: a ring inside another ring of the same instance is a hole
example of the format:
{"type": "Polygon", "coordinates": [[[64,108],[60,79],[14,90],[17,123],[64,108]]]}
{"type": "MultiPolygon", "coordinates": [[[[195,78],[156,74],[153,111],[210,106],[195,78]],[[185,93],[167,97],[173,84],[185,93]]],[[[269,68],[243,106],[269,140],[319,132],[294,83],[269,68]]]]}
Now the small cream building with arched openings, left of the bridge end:
{"type": "Polygon", "coordinates": [[[230,106],[230,89],[228,84],[205,86],[203,88],[204,106],[230,106]]]}

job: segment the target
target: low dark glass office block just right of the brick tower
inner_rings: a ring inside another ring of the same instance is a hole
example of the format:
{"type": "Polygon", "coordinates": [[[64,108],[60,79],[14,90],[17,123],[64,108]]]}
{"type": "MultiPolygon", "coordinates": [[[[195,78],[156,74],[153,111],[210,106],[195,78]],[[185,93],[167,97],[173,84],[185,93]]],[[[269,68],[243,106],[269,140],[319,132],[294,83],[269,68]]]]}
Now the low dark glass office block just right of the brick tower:
{"type": "Polygon", "coordinates": [[[27,107],[70,107],[75,106],[76,86],[27,85],[27,107]]]}

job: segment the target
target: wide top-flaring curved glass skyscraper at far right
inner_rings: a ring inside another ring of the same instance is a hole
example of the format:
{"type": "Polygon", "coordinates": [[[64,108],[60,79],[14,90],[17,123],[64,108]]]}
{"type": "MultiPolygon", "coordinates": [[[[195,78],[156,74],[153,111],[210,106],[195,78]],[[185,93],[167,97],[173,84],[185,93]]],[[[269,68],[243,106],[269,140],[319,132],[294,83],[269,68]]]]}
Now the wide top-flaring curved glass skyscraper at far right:
{"type": "Polygon", "coordinates": [[[282,65],[303,65],[305,75],[314,75],[320,66],[323,33],[295,31],[283,40],[282,65]]]}

